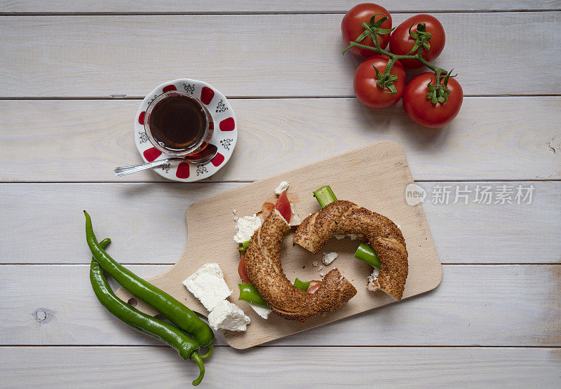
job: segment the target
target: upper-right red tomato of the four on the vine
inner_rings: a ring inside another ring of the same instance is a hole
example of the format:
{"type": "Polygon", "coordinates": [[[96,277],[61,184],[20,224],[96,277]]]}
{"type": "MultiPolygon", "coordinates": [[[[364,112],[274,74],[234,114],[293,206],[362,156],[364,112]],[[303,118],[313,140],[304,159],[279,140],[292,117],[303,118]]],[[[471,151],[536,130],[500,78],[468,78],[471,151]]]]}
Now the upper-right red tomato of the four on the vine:
{"type": "MultiPolygon", "coordinates": [[[[442,53],[442,49],[444,48],[444,44],[446,42],[446,36],[444,34],[444,27],[442,27],[440,22],[431,15],[416,15],[398,25],[398,27],[396,27],[396,29],[394,29],[391,33],[390,51],[393,54],[398,55],[406,55],[409,53],[415,44],[415,39],[413,39],[409,34],[409,27],[414,24],[411,28],[411,32],[417,32],[417,25],[419,23],[424,23],[426,25],[426,32],[430,32],[432,34],[431,39],[428,40],[431,48],[428,50],[423,49],[421,54],[425,60],[432,62],[436,57],[438,57],[438,55],[440,55],[440,53],[442,53]]],[[[424,67],[424,64],[421,64],[421,62],[417,60],[400,61],[403,63],[403,66],[412,69],[424,67]]]]}

